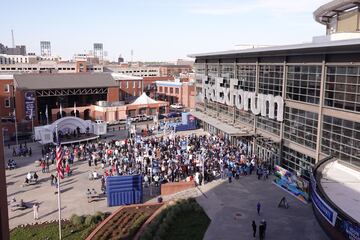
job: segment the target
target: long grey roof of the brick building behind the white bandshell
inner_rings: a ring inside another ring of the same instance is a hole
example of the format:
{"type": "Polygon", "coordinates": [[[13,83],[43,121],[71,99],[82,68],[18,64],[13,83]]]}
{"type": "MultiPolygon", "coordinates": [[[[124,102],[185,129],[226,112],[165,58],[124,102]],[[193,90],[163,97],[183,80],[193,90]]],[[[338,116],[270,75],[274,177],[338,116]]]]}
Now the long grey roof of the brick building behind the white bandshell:
{"type": "Polygon", "coordinates": [[[118,87],[108,73],[15,74],[14,80],[17,88],[32,90],[118,87]]]}

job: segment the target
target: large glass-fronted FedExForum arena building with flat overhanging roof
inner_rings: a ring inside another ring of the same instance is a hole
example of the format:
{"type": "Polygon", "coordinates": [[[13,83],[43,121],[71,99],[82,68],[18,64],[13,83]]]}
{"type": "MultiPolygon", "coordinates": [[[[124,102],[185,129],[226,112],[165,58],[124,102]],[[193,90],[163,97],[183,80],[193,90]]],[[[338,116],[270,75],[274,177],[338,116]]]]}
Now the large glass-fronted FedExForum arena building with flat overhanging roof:
{"type": "Polygon", "coordinates": [[[326,36],[311,43],[191,55],[193,115],[205,130],[308,180],[321,160],[336,161],[334,172],[346,177],[324,165],[322,184],[313,186],[321,199],[314,212],[334,239],[360,234],[359,5],[337,0],[317,9],[326,36]]]}

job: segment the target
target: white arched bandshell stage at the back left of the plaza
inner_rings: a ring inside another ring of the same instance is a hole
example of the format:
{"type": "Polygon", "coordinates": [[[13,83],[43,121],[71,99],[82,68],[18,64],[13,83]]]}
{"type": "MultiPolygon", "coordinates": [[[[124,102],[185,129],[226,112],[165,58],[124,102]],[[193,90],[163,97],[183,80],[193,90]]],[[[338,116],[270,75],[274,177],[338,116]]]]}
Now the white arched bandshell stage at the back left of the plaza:
{"type": "MultiPolygon", "coordinates": [[[[55,143],[54,135],[56,128],[64,135],[73,135],[74,132],[80,132],[80,134],[91,134],[92,138],[94,138],[94,135],[98,137],[107,132],[106,123],[103,121],[91,122],[90,120],[83,120],[78,117],[63,117],[52,124],[35,127],[35,140],[41,144],[55,143]]],[[[86,140],[86,138],[78,139],[86,140]]],[[[76,139],[73,140],[75,141],[71,142],[76,142],[76,139]]]]}

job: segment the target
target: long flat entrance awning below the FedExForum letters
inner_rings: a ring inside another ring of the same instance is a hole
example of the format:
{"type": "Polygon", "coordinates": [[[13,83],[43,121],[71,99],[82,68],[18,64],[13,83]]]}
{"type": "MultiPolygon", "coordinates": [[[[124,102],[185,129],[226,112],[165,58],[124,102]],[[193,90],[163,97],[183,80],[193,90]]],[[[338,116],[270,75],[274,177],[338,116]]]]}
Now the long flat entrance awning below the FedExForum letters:
{"type": "Polygon", "coordinates": [[[221,122],[220,120],[210,117],[209,115],[206,115],[202,112],[194,111],[190,112],[191,115],[196,117],[197,119],[206,122],[207,124],[219,129],[220,131],[230,135],[230,136],[252,136],[254,133],[246,128],[235,128],[229,124],[226,124],[224,122],[221,122]]]}

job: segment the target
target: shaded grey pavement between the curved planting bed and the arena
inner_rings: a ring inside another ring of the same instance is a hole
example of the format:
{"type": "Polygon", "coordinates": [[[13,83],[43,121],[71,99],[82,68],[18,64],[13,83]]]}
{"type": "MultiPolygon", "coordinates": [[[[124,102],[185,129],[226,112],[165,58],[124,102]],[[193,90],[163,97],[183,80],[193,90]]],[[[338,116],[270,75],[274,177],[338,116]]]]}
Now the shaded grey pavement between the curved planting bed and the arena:
{"type": "MultiPolygon", "coordinates": [[[[266,181],[257,180],[255,175],[241,177],[239,181],[224,181],[219,186],[197,197],[211,219],[204,239],[254,239],[252,220],[257,227],[262,219],[267,221],[266,238],[277,240],[327,240],[317,223],[311,204],[304,204],[282,189],[266,181]],[[289,209],[278,208],[285,196],[289,209]],[[261,203],[260,216],[256,212],[261,203]]],[[[258,239],[258,232],[256,235],[258,239]]]]}

